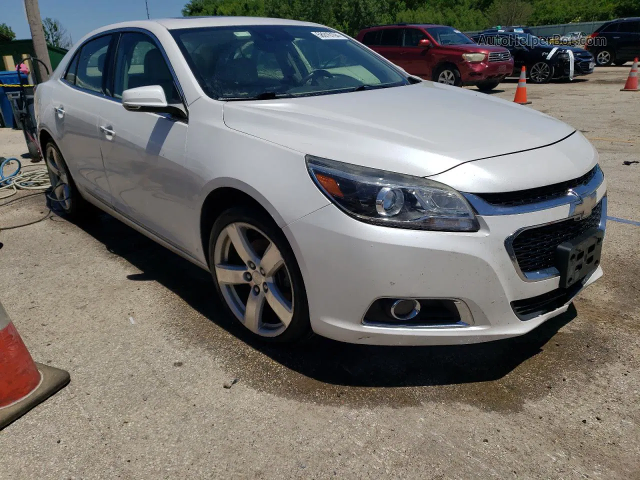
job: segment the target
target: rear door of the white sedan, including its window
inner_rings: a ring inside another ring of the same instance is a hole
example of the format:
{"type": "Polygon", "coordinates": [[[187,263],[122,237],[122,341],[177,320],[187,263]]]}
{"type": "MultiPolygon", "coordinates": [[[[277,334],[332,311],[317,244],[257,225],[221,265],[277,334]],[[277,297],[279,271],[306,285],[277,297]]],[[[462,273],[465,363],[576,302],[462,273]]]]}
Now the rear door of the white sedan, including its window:
{"type": "Polygon", "coordinates": [[[88,40],[70,62],[61,84],[52,90],[56,143],[77,186],[111,204],[100,155],[98,112],[110,102],[106,90],[113,35],[88,40]]]}

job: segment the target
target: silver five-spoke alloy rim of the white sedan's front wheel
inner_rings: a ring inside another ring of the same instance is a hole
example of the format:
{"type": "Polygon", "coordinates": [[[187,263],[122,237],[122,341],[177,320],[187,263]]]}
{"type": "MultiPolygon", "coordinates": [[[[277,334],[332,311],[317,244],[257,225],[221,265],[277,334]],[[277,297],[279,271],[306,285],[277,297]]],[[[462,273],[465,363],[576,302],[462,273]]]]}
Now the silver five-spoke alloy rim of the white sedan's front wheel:
{"type": "Polygon", "coordinates": [[[293,284],[282,253],[262,230],[230,223],[214,245],[222,296],[234,316],[261,337],[276,337],[291,323],[293,284]]]}

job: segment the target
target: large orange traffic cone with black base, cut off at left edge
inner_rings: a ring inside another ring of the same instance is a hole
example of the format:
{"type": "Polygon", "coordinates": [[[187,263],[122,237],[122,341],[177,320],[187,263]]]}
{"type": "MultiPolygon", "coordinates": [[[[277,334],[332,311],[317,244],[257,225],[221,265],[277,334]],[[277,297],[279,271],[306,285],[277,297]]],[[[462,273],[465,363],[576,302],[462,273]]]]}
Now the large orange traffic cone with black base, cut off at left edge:
{"type": "Polygon", "coordinates": [[[67,371],[36,364],[0,303],[0,429],[69,383],[67,371]]]}

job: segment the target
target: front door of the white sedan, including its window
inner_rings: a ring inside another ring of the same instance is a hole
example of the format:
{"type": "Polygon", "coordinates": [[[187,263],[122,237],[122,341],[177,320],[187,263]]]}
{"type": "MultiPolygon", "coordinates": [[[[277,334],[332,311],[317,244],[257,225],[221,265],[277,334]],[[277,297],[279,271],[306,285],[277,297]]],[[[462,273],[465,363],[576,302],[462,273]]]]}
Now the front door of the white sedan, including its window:
{"type": "MultiPolygon", "coordinates": [[[[181,104],[163,52],[145,33],[120,36],[113,75],[113,96],[100,109],[100,143],[115,208],[150,232],[184,248],[189,193],[184,149],[188,124],[164,113],[127,111],[122,92],[160,85],[167,102],[181,104]]],[[[184,107],[184,105],[182,105],[184,107]]]]}

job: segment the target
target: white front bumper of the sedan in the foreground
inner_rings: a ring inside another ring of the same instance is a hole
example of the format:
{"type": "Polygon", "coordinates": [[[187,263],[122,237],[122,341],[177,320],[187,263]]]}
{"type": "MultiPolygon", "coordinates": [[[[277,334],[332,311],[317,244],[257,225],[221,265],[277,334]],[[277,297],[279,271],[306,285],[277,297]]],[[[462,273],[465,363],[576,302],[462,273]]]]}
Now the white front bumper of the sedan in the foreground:
{"type": "MultiPolygon", "coordinates": [[[[598,188],[598,202],[605,188],[598,188]]],[[[314,332],[361,344],[467,344],[522,335],[567,310],[573,297],[527,321],[516,316],[512,301],[556,290],[559,277],[522,278],[505,240],[520,228],[566,219],[569,212],[569,205],[561,205],[479,216],[479,232],[426,232],[363,223],[332,204],[287,225],[284,232],[300,264],[314,332]],[[365,313],[380,298],[455,299],[469,318],[444,326],[365,323],[365,313]]],[[[583,287],[600,276],[598,266],[583,287]]]]}

